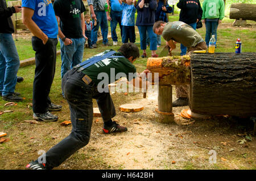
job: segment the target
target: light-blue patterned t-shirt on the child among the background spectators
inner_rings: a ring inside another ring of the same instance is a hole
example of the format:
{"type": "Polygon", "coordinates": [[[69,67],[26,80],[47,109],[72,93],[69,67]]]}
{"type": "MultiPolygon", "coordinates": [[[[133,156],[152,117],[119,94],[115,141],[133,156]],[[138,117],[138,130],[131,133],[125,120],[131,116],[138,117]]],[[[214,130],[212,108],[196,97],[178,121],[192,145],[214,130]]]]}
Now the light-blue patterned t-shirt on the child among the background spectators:
{"type": "Polygon", "coordinates": [[[122,26],[134,26],[135,12],[136,12],[134,5],[133,4],[127,5],[126,3],[123,2],[121,7],[123,9],[121,25],[122,26]]]}

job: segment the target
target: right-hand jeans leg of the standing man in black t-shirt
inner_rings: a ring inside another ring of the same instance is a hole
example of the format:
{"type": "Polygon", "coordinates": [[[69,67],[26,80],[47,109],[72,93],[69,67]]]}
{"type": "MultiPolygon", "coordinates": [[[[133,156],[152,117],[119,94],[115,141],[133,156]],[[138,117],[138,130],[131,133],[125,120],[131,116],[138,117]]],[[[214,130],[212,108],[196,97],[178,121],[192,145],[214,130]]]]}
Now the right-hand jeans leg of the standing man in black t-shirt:
{"type": "Polygon", "coordinates": [[[76,66],[77,64],[80,64],[82,62],[82,56],[84,55],[84,44],[85,44],[85,37],[81,37],[79,39],[76,39],[77,47],[76,52],[73,55],[73,60],[71,64],[71,69],[73,66],[76,66]]]}

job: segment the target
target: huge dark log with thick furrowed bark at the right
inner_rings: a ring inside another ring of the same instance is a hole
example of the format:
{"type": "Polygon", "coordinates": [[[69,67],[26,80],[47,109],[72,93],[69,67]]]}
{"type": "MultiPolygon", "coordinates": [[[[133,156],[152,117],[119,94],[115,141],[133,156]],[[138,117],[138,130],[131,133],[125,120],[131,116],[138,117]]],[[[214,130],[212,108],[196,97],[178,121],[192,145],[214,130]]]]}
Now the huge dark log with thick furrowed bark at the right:
{"type": "Polygon", "coordinates": [[[191,111],[203,115],[256,115],[256,53],[191,55],[191,111]]]}

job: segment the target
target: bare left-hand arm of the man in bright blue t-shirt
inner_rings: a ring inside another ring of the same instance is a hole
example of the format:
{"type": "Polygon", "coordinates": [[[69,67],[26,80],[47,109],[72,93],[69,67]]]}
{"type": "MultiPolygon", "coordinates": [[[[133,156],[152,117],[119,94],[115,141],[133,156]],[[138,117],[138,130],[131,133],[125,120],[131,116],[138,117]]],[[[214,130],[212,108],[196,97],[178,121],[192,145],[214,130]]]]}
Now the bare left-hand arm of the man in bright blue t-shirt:
{"type": "Polygon", "coordinates": [[[34,10],[28,7],[22,7],[22,19],[23,24],[33,33],[34,36],[38,37],[43,41],[45,45],[48,41],[48,36],[38,27],[38,25],[32,20],[34,10]]]}

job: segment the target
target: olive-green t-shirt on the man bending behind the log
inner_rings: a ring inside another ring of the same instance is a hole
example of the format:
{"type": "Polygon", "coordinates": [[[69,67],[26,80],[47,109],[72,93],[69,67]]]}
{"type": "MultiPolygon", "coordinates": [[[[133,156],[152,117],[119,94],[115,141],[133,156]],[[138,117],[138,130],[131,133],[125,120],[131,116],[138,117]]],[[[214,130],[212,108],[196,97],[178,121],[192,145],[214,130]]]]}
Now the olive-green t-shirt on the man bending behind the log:
{"type": "Polygon", "coordinates": [[[191,26],[183,22],[168,22],[164,26],[163,38],[166,41],[174,40],[185,47],[195,47],[203,38],[191,26]]]}

